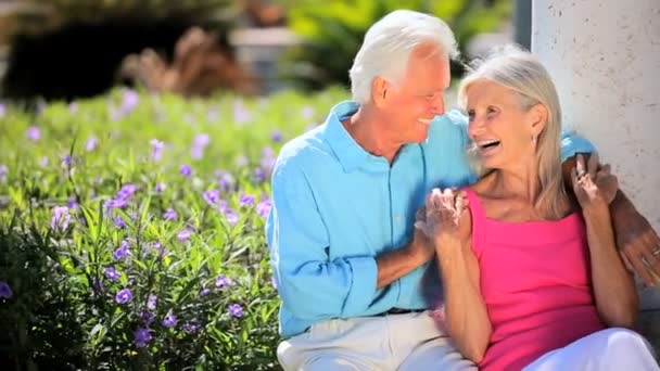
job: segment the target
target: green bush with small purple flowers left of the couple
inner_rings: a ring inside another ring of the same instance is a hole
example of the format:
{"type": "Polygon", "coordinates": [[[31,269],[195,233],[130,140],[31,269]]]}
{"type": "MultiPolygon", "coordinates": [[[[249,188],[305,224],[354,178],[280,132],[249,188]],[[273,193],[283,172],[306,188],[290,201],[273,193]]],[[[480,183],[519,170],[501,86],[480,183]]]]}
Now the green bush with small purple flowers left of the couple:
{"type": "Polygon", "coordinates": [[[267,179],[281,141],[344,97],[0,105],[0,358],[277,368],[267,179]]]}

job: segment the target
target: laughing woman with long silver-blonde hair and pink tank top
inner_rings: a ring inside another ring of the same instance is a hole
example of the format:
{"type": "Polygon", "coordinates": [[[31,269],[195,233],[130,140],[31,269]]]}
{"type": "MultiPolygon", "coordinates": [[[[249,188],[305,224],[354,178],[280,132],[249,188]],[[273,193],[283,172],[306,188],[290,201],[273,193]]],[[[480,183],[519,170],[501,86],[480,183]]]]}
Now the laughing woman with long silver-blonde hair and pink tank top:
{"type": "Polygon", "coordinates": [[[482,178],[434,190],[426,220],[444,323],[483,370],[658,370],[634,325],[637,294],[614,246],[609,166],[578,158],[564,191],[560,107],[546,69],[505,48],[462,81],[482,178]],[[469,209],[469,213],[466,210],[469,209]]]}

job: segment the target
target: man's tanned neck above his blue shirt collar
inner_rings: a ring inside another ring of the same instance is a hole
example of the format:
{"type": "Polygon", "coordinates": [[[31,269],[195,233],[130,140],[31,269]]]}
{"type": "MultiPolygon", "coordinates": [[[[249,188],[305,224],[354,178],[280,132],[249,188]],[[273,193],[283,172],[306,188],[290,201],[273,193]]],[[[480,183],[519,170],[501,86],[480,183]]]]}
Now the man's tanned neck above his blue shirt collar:
{"type": "Polygon", "coordinates": [[[375,156],[385,157],[392,164],[403,143],[393,141],[389,132],[383,131],[383,126],[379,125],[383,119],[360,107],[342,124],[359,146],[375,156]]]}

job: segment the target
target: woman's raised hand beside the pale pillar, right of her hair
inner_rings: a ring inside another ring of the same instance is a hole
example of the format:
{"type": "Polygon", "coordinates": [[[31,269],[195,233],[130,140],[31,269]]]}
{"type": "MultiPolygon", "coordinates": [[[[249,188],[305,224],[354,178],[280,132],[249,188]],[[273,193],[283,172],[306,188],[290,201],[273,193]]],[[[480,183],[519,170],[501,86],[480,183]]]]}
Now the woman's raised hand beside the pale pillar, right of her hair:
{"type": "Polygon", "coordinates": [[[619,190],[617,177],[610,172],[610,166],[598,169],[598,155],[593,154],[585,165],[584,157],[578,155],[575,167],[571,170],[573,192],[583,212],[607,209],[619,190]],[[605,207],[602,207],[605,206],[605,207]]]}

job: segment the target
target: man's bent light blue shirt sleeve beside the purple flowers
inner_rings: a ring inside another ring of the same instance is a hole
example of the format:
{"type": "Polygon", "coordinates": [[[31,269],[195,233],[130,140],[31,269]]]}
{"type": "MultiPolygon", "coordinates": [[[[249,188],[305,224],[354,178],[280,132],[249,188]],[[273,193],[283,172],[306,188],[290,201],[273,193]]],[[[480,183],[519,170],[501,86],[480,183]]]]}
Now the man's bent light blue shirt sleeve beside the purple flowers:
{"type": "Polygon", "coordinates": [[[372,302],[377,266],[372,256],[330,259],[330,239],[304,171],[294,164],[272,175],[267,239],[278,292],[297,318],[353,317],[372,302]]]}

